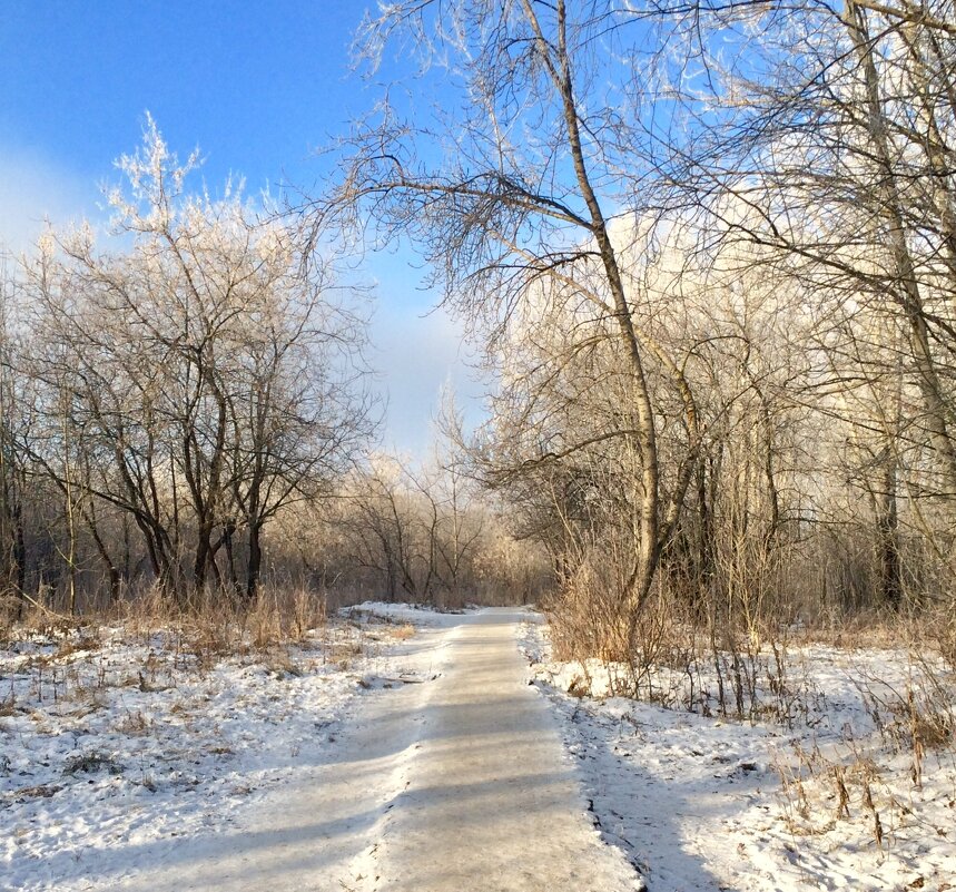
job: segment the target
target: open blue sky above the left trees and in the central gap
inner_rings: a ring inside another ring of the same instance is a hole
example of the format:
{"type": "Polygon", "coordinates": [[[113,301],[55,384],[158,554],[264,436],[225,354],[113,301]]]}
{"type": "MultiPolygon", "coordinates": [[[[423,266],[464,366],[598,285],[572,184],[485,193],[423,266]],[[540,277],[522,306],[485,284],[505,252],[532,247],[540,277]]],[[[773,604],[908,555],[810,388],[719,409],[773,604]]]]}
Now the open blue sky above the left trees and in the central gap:
{"type": "MultiPolygon", "coordinates": [[[[321,182],[315,149],[375,98],[349,71],[363,2],[4,2],[0,6],[0,241],[21,251],[42,219],[96,217],[112,160],[132,151],[148,109],[169,145],[197,145],[215,190],[321,182]]],[[[385,444],[423,452],[443,382],[467,399],[459,326],[423,318],[434,296],[411,258],[372,256],[372,356],[387,389],[385,444]]]]}

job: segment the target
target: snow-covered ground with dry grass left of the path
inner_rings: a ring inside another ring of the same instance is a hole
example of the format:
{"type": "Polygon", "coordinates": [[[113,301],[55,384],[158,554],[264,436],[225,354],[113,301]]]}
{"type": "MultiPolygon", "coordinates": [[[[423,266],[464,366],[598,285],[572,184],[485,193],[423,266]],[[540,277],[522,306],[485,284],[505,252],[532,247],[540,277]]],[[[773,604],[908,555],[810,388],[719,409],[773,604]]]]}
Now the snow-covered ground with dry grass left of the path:
{"type": "Polygon", "coordinates": [[[87,889],[221,833],[321,758],[410,633],[336,621],[231,656],[171,631],[24,634],[0,650],[0,890],[87,889]]]}

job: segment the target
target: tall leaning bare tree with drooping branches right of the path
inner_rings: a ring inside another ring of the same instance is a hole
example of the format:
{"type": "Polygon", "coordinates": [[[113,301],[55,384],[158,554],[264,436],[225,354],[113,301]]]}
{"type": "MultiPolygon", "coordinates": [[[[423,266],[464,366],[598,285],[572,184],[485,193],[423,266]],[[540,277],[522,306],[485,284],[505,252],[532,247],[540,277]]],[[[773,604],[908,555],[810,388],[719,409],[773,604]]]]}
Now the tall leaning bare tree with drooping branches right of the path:
{"type": "MultiPolygon", "coordinates": [[[[381,234],[411,234],[445,301],[485,332],[492,356],[519,322],[533,326],[535,294],[561,292],[607,322],[629,415],[627,431],[609,435],[625,439],[638,459],[629,490],[638,526],[620,592],[633,627],[692,479],[699,432],[662,491],[649,363],[682,392],[691,427],[693,408],[679,366],[640,330],[641,295],[629,291],[614,233],[617,218],[633,222],[644,206],[627,160],[642,154],[644,121],[621,105],[632,72],[621,78],[610,61],[637,52],[639,32],[624,28],[631,18],[611,4],[581,9],[564,0],[390,6],[359,36],[366,58],[375,65],[386,48],[413,40],[426,73],[447,76],[443,89],[461,85],[462,112],[416,127],[383,106],[349,144],[337,202],[321,209],[368,210],[381,234]],[[605,76],[608,91],[597,86],[605,76]]],[[[568,433],[564,454],[592,440],[568,433]]]]}

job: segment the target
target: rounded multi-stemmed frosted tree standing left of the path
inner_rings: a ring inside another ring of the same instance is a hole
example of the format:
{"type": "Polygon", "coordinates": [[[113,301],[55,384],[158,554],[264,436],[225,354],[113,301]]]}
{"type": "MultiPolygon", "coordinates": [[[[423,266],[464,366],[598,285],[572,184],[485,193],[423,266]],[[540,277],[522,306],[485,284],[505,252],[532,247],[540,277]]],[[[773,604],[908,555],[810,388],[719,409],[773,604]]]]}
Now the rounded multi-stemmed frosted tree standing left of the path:
{"type": "Polygon", "coordinates": [[[373,427],[364,318],[311,234],[228,186],[188,194],[197,164],[148,120],[109,194],[112,245],[85,226],[48,236],[30,265],[51,431],[36,452],[135,523],[166,590],[252,598],[264,527],[319,493],[373,427]],[[79,479],[49,448],[61,422],[79,479]]]}

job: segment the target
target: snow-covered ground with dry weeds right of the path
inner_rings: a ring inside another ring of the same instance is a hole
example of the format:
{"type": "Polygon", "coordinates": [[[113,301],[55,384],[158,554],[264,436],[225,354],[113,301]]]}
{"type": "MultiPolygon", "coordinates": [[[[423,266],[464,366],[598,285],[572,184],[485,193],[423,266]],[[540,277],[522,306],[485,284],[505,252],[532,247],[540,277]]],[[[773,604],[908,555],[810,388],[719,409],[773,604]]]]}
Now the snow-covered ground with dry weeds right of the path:
{"type": "Polygon", "coordinates": [[[927,675],[903,650],[791,647],[787,727],[701,715],[717,712],[706,672],[691,692],[686,674],[660,669],[664,708],[612,696],[614,667],[551,659],[541,624],[522,647],[595,824],[651,892],[956,889],[953,716],[939,708],[949,697],[952,709],[954,679],[942,667],[927,675]]]}

